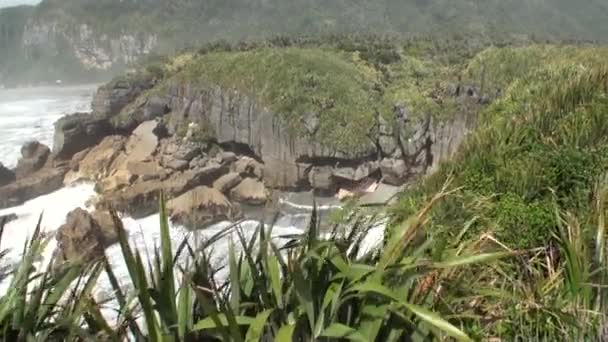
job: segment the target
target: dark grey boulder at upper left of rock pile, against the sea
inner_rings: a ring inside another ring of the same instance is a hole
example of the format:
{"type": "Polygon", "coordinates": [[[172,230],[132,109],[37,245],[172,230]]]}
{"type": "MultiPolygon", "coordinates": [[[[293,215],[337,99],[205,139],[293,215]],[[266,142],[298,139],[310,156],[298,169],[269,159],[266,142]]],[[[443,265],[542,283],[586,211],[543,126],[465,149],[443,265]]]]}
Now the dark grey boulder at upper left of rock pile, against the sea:
{"type": "Polygon", "coordinates": [[[112,134],[108,120],[99,115],[78,113],[55,122],[53,155],[58,159],[71,159],[74,154],[96,145],[112,134]]]}

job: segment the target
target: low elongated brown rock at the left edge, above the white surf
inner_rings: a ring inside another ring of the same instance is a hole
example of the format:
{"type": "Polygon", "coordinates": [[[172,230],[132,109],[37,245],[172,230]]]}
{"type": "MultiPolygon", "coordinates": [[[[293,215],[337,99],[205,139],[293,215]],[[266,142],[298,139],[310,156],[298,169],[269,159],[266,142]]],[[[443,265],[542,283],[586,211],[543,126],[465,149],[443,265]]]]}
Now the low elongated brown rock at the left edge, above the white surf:
{"type": "Polygon", "coordinates": [[[61,189],[68,170],[68,166],[45,167],[27,177],[0,187],[0,208],[20,205],[35,197],[61,189]]]}

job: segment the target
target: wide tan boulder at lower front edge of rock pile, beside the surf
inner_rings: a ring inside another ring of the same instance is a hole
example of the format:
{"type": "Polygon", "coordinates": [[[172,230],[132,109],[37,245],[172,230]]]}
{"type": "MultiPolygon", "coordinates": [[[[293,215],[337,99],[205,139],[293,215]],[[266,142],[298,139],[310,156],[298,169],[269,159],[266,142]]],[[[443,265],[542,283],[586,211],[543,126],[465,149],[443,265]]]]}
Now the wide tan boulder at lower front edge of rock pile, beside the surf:
{"type": "Polygon", "coordinates": [[[167,209],[173,222],[192,228],[204,228],[220,221],[242,217],[238,206],[216,189],[200,186],[170,200],[167,209]]]}

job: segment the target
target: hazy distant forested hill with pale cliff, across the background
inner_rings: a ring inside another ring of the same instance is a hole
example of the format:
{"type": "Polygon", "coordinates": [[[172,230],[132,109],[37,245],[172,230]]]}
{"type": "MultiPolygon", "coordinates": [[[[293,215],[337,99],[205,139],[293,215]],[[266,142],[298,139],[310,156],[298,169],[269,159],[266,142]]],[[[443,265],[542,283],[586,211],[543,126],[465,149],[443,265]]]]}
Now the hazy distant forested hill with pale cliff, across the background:
{"type": "Polygon", "coordinates": [[[45,0],[0,10],[0,82],[86,78],[217,39],[376,33],[603,40],[603,0],[45,0]]]}

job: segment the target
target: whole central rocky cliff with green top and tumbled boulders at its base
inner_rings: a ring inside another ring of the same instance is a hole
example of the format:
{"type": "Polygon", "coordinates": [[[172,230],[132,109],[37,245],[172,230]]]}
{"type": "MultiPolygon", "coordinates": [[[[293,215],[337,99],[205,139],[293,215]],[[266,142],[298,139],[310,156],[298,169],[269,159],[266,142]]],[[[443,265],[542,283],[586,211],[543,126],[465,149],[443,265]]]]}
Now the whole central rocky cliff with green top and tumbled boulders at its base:
{"type": "Polygon", "coordinates": [[[52,152],[25,146],[0,206],[84,179],[98,209],[142,217],[164,193],[174,221],[200,226],[272,203],[274,190],[401,186],[450,158],[490,101],[453,68],[329,48],[179,56],[100,87],[93,113],[55,124],[52,152]]]}

